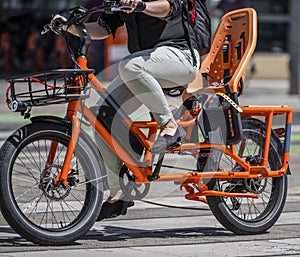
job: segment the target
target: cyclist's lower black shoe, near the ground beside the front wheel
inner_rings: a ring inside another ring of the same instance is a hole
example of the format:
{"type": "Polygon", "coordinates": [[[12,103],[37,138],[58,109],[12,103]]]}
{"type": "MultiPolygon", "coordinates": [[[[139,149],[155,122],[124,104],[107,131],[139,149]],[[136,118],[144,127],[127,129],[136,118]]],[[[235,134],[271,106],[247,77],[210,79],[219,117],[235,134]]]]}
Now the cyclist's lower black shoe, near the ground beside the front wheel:
{"type": "Polygon", "coordinates": [[[119,215],[126,215],[127,208],[134,206],[133,201],[118,200],[114,203],[104,202],[96,221],[107,218],[115,218],[119,215]]]}

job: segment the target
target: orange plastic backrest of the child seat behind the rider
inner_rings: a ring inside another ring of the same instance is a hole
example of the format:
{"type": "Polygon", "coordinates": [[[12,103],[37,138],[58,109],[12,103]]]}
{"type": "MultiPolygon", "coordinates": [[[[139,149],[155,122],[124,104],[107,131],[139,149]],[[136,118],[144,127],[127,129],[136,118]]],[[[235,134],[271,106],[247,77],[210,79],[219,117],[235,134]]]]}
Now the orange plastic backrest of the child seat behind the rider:
{"type": "Polygon", "coordinates": [[[198,77],[188,85],[187,93],[203,88],[203,76],[208,85],[221,83],[230,78],[231,93],[239,91],[240,80],[244,79],[247,65],[256,47],[257,15],[252,8],[226,13],[214,34],[210,52],[201,62],[198,77]]]}

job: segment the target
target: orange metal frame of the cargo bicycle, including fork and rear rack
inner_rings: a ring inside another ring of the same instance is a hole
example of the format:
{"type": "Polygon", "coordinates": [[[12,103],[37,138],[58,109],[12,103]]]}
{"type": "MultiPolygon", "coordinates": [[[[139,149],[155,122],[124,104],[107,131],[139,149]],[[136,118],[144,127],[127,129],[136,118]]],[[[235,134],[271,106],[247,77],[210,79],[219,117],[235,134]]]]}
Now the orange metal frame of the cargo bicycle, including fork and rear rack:
{"type": "MultiPolygon", "coordinates": [[[[87,69],[87,61],[85,58],[79,58],[78,64],[81,69],[87,69]]],[[[89,74],[90,85],[96,90],[100,95],[107,96],[108,93],[106,89],[101,84],[101,82],[95,77],[94,74],[89,74]]],[[[111,103],[112,108],[113,103],[111,103]]],[[[262,116],[265,118],[266,123],[266,138],[264,142],[264,155],[262,166],[251,166],[249,163],[245,162],[238,154],[234,153],[234,145],[226,146],[219,144],[210,144],[210,143],[184,143],[181,146],[169,150],[168,152],[176,151],[196,151],[197,149],[219,149],[228,156],[230,156],[238,165],[243,168],[242,172],[233,172],[233,171],[207,171],[207,172],[188,172],[183,174],[161,174],[159,177],[154,180],[155,182],[161,181],[176,181],[183,183],[183,186],[187,189],[188,183],[199,184],[200,181],[207,178],[218,178],[223,180],[229,180],[232,178],[254,178],[261,179],[264,177],[278,177],[283,176],[288,171],[288,160],[289,160],[289,143],[290,143],[290,134],[291,134],[291,124],[292,124],[292,109],[285,106],[244,106],[242,108],[243,117],[252,117],[252,116],[262,116]],[[284,139],[284,153],[282,156],[282,167],[279,170],[268,170],[267,169],[267,160],[269,154],[269,145],[271,138],[271,130],[273,125],[273,117],[277,115],[286,116],[286,125],[285,125],[285,139],[284,139]]],[[[124,162],[124,164],[133,172],[136,180],[135,183],[150,183],[148,177],[153,174],[150,164],[152,163],[152,154],[150,153],[150,148],[153,144],[154,138],[153,135],[157,133],[159,127],[155,121],[137,121],[134,122],[129,119],[129,117],[123,113],[123,123],[126,124],[128,129],[130,129],[140,140],[140,142],[145,147],[144,161],[142,167],[137,164],[128,154],[128,152],[123,149],[123,147],[114,139],[110,132],[107,131],[105,126],[97,119],[97,117],[92,113],[88,107],[82,103],[80,100],[72,101],[68,104],[66,118],[72,121],[73,129],[72,135],[70,138],[65,162],[61,173],[56,178],[56,181],[62,181],[67,183],[67,176],[70,168],[70,160],[73,155],[77,138],[80,133],[80,121],[77,118],[77,112],[82,113],[84,117],[92,124],[95,131],[103,138],[103,140],[110,146],[114,153],[124,162]],[[149,133],[146,136],[141,129],[148,129],[149,133]]],[[[189,117],[189,120],[179,120],[178,124],[182,127],[192,127],[196,122],[196,117],[198,112],[194,116],[189,117]]],[[[189,115],[188,115],[189,116],[189,115]]],[[[53,146],[52,151],[55,151],[55,145],[53,146]]],[[[51,152],[52,152],[51,151],[51,152]]],[[[200,183],[201,184],[201,183],[200,183]]],[[[206,185],[203,184],[202,191],[200,193],[192,193],[187,196],[187,199],[205,201],[199,196],[228,196],[228,197],[253,197],[257,198],[256,194],[243,194],[243,193],[226,193],[219,191],[208,190],[206,185]]]]}

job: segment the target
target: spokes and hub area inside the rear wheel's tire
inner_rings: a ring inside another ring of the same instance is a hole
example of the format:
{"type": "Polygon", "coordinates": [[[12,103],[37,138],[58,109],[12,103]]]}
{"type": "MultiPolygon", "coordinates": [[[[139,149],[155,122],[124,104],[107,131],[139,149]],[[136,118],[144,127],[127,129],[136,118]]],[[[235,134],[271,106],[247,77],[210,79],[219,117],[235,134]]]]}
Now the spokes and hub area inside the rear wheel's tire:
{"type": "MultiPolygon", "coordinates": [[[[251,127],[251,126],[250,126],[251,127]]],[[[260,165],[262,163],[265,135],[263,129],[244,129],[244,138],[235,146],[236,153],[250,165],[260,165]]],[[[278,168],[280,157],[277,149],[270,146],[269,160],[267,168],[274,170],[278,168]]],[[[236,166],[236,162],[228,155],[223,155],[220,161],[220,170],[242,171],[236,166]]],[[[274,183],[276,179],[232,179],[229,181],[218,181],[219,190],[231,193],[252,193],[258,194],[258,199],[253,198],[229,198],[223,197],[223,203],[227,205],[231,213],[242,220],[254,221],[265,216],[269,212],[270,206],[274,204],[274,183]]]]}

